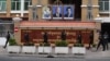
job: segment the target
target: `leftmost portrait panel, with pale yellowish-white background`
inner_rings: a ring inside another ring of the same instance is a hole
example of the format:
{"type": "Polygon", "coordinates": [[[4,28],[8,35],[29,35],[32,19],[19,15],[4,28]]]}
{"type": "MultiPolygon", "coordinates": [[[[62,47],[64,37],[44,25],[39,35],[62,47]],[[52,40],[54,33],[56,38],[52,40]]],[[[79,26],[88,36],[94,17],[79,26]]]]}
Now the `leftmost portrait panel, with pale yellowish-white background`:
{"type": "Polygon", "coordinates": [[[50,20],[52,17],[51,14],[52,14],[51,7],[50,5],[43,7],[43,9],[42,9],[42,17],[46,19],[46,20],[50,20]]]}

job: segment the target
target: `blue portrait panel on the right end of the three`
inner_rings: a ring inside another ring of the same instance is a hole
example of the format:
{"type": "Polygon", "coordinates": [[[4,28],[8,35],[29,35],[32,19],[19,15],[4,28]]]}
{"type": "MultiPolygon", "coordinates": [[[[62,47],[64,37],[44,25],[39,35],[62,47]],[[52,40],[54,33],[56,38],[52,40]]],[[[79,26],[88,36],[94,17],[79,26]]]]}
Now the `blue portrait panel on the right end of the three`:
{"type": "Polygon", "coordinates": [[[74,5],[64,5],[64,19],[74,20],[75,8],[74,5]]]}

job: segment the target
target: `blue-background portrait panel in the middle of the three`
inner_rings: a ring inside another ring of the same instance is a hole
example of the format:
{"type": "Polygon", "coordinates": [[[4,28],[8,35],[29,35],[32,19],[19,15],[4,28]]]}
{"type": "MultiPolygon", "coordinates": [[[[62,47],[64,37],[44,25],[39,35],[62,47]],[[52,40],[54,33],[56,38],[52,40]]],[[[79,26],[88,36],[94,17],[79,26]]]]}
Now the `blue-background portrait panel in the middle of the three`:
{"type": "Polygon", "coordinates": [[[62,5],[53,5],[53,20],[62,20],[63,19],[63,7],[62,5]]]}

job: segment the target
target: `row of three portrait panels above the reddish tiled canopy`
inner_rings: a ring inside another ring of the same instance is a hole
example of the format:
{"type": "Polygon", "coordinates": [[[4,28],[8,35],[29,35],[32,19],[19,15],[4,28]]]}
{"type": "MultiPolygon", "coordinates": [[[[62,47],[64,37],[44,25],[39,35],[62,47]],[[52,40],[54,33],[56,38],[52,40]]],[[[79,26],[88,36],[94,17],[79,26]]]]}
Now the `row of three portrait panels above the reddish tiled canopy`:
{"type": "Polygon", "coordinates": [[[74,20],[74,5],[45,5],[42,9],[44,20],[74,20]]]}

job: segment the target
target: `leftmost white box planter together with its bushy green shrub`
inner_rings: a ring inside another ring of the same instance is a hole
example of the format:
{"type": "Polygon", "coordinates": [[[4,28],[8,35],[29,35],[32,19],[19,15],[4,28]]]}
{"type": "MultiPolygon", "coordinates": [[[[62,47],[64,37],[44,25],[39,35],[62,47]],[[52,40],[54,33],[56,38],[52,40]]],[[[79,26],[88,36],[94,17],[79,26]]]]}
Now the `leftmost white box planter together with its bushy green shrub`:
{"type": "Polygon", "coordinates": [[[19,53],[19,52],[21,52],[21,47],[16,44],[14,38],[10,38],[7,50],[10,53],[12,53],[12,52],[19,53]]]}

